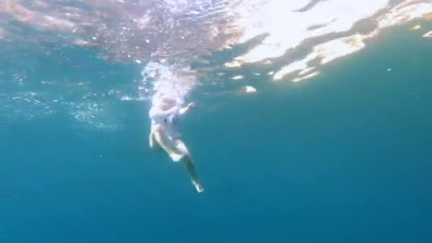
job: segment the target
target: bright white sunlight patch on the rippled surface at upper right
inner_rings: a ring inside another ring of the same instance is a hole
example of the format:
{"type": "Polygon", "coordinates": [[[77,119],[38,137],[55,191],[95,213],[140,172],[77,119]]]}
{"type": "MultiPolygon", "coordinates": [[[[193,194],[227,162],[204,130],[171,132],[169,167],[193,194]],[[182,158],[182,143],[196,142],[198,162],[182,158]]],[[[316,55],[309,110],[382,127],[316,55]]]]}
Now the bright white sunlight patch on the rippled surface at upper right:
{"type": "MultiPolygon", "coordinates": [[[[318,1],[307,11],[293,11],[300,2],[267,1],[257,12],[239,18],[242,36],[237,43],[247,43],[253,38],[266,34],[247,53],[238,55],[225,63],[226,68],[239,68],[249,63],[272,62],[301,46],[311,46],[303,58],[286,58],[288,61],[275,70],[273,80],[283,80],[294,75],[298,82],[318,75],[319,65],[325,65],[342,56],[350,55],[366,47],[365,40],[379,35],[383,28],[412,21],[414,18],[428,18],[432,3],[427,1],[402,1],[394,4],[387,0],[369,1],[318,1]],[[331,36],[335,37],[331,37],[331,36]],[[306,41],[311,40],[311,41],[306,41]],[[313,73],[310,73],[315,71],[313,73]]],[[[414,26],[418,29],[420,26],[414,26]]],[[[426,33],[423,37],[430,37],[426,33]]]]}

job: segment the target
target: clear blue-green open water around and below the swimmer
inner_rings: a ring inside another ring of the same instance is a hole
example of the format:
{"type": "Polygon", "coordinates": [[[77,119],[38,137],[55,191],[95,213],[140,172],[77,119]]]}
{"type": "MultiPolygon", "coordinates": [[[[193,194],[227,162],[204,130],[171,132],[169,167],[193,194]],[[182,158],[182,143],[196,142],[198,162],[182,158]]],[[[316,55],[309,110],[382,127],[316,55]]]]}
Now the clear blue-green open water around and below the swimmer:
{"type": "Polygon", "coordinates": [[[104,109],[80,113],[83,122],[65,105],[80,89],[134,94],[141,66],[77,48],[4,59],[0,239],[431,242],[431,47],[392,29],[311,80],[257,78],[249,96],[198,87],[181,132],[202,194],[182,166],[148,148],[146,100],[86,97],[104,109]],[[19,89],[65,103],[21,104],[7,95],[19,89]]]}

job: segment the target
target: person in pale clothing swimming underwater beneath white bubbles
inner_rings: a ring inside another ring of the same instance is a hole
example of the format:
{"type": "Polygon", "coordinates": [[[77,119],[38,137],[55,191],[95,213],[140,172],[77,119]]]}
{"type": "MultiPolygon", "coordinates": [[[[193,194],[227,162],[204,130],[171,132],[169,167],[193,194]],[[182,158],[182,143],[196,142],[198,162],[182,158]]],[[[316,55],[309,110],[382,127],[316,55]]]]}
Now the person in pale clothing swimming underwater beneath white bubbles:
{"type": "Polygon", "coordinates": [[[189,103],[186,107],[181,107],[182,103],[178,99],[166,96],[156,100],[153,99],[153,106],[148,112],[151,118],[148,142],[151,148],[157,142],[173,161],[182,161],[192,178],[193,186],[198,193],[202,193],[204,188],[202,188],[198,180],[198,174],[195,171],[190,152],[178,133],[178,119],[181,115],[187,113],[194,104],[189,103]]]}

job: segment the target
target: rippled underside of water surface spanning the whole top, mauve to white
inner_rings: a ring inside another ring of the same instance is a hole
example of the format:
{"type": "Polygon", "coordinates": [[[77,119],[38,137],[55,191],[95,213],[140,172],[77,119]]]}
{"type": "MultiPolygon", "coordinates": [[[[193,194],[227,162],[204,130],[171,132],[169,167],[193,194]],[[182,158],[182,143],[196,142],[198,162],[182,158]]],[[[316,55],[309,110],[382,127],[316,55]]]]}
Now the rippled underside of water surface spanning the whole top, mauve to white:
{"type": "MultiPolygon", "coordinates": [[[[362,50],[383,28],[415,18],[432,19],[431,1],[2,0],[0,40],[28,41],[28,46],[43,41],[90,45],[109,51],[111,61],[164,60],[185,66],[215,50],[235,53],[246,44],[249,48],[225,61],[225,68],[274,65],[266,70],[273,80],[290,75],[298,81],[362,50]],[[41,32],[33,38],[19,36],[23,31],[10,24],[16,22],[41,32]],[[306,53],[292,56],[297,50],[306,53]]],[[[412,30],[420,28],[417,24],[412,30]]]]}

